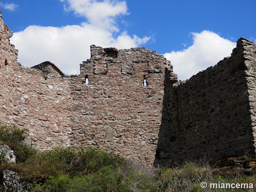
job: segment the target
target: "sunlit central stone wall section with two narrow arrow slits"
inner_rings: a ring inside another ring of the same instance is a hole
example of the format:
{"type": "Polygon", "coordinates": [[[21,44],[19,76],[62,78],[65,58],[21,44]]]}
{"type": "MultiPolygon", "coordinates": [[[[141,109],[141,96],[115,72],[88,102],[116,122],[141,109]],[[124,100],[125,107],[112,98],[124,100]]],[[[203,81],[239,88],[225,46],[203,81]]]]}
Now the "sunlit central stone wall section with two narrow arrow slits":
{"type": "Polygon", "coordinates": [[[81,75],[70,81],[76,100],[74,136],[79,143],[152,164],[161,124],[164,70],[172,66],[145,48],[92,45],[91,55],[81,64],[81,75]]]}

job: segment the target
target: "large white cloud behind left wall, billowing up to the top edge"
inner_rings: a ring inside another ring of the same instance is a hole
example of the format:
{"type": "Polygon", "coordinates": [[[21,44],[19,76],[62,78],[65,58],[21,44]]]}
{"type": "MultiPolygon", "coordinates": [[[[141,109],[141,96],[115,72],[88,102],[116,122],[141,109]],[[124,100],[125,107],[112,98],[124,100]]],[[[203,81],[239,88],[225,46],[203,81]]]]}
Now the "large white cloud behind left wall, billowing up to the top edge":
{"type": "Polygon", "coordinates": [[[118,17],[128,14],[125,1],[60,1],[66,11],[83,16],[86,22],[60,28],[29,26],[14,33],[10,41],[19,50],[18,61],[22,65],[32,67],[49,60],[64,74],[79,74],[79,63],[90,58],[91,44],[125,49],[138,47],[150,39],[129,36],[125,31],[117,33],[118,17]]]}

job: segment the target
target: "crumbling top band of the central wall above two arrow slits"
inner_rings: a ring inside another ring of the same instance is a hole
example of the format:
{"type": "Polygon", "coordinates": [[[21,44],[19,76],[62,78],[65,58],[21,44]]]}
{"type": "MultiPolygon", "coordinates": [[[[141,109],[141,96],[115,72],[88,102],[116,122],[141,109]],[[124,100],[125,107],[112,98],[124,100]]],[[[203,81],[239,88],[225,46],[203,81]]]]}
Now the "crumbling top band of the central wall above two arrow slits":
{"type": "Polygon", "coordinates": [[[172,68],[171,62],[155,51],[141,48],[117,50],[91,45],[91,59],[80,64],[80,75],[144,76],[172,68]]]}

